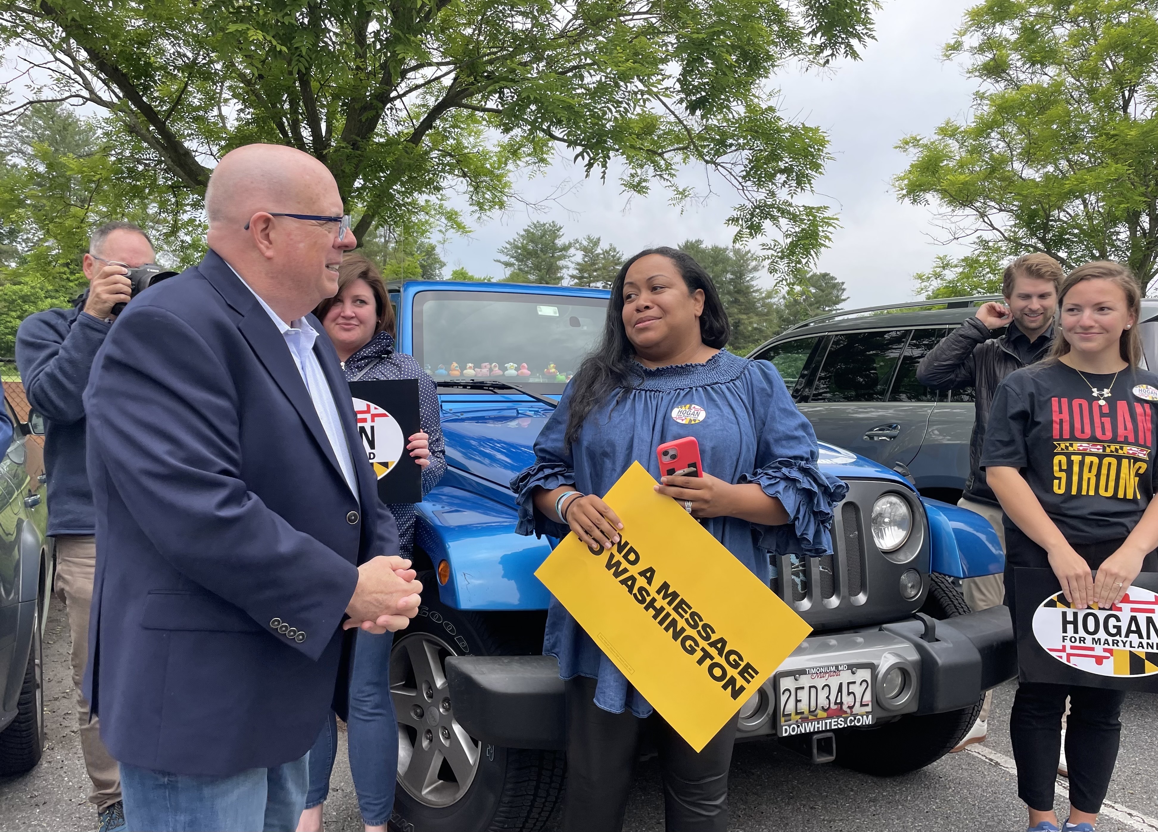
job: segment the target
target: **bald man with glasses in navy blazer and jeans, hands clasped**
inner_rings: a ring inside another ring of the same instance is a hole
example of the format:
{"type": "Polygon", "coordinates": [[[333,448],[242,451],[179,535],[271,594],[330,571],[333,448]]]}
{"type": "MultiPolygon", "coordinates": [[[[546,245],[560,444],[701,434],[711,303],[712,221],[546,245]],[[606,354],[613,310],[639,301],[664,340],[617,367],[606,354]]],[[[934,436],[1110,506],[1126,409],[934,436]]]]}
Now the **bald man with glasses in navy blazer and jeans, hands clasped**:
{"type": "Polygon", "coordinates": [[[422,584],[309,314],[357,242],[334,177],[250,145],[205,204],[205,259],[126,309],[86,396],[86,684],[130,830],[292,832],[346,632],[405,627],[422,584]]]}

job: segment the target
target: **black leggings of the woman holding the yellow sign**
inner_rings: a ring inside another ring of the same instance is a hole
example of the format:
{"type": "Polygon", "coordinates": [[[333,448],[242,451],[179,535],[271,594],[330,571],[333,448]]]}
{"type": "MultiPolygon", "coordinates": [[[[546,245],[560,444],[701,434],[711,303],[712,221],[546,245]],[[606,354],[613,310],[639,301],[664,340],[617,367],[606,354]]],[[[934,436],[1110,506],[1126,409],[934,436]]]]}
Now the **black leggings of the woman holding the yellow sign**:
{"type": "MultiPolygon", "coordinates": [[[[567,787],[563,832],[620,832],[645,720],[595,705],[595,679],[564,683],[567,702],[567,787]]],[[[735,717],[696,753],[658,714],[657,743],[664,774],[668,832],[726,832],[727,770],[735,717]]]]}

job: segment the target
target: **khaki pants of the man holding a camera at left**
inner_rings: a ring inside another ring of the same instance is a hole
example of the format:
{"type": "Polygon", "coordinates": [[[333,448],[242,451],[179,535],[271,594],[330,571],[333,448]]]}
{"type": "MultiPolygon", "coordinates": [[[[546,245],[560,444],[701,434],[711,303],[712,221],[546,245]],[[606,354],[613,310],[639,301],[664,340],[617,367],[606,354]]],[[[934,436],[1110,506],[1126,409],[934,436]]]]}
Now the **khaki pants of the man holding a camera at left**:
{"type": "Polygon", "coordinates": [[[57,538],[56,591],[68,608],[68,631],[72,634],[73,686],[76,689],[76,719],[80,723],[80,746],[85,767],[93,781],[88,796],[97,811],[120,800],[120,774],[117,761],[101,741],[101,726],[89,721],[88,700],[81,691],[85,665],[88,663],[88,611],[93,604],[93,576],[96,572],[96,542],[91,536],[57,538]]]}

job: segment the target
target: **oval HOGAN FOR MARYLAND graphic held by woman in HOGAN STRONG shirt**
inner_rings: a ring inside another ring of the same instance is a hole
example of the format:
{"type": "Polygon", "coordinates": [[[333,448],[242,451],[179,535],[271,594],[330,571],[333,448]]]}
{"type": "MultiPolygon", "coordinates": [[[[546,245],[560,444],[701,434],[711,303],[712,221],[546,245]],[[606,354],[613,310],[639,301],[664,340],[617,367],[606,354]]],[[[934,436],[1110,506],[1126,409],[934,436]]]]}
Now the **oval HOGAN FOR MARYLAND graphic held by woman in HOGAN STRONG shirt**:
{"type": "Polygon", "coordinates": [[[1062,592],[1033,614],[1033,635],[1057,661],[1098,676],[1158,673],[1158,595],[1130,587],[1108,610],[1075,610],[1062,592]]]}

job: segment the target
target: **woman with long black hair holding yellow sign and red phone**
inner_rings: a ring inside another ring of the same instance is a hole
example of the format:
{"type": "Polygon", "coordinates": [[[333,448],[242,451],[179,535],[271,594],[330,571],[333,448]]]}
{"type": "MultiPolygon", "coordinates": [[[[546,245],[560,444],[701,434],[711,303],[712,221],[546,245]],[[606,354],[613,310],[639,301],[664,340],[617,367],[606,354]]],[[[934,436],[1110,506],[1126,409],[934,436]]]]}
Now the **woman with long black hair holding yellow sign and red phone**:
{"type": "MultiPolygon", "coordinates": [[[[512,481],[520,533],[573,531],[610,548],[622,524],[601,496],[635,461],[658,477],[655,448],[694,436],[703,477],[666,477],[657,489],[761,580],[769,579],[769,551],[830,552],[833,507],[846,486],[816,467],[812,426],[776,368],[725,352],[727,339],[716,287],[689,255],[660,248],[629,259],[611,287],[600,345],[543,427],[535,464],[512,481]]],[[[703,567],[710,587],[712,564],[703,567]]],[[[566,683],[563,829],[615,832],[652,707],[554,598],[543,651],[559,660],[566,683]]],[[[699,753],[655,719],[667,829],[724,832],[735,717],[699,753]]]]}

